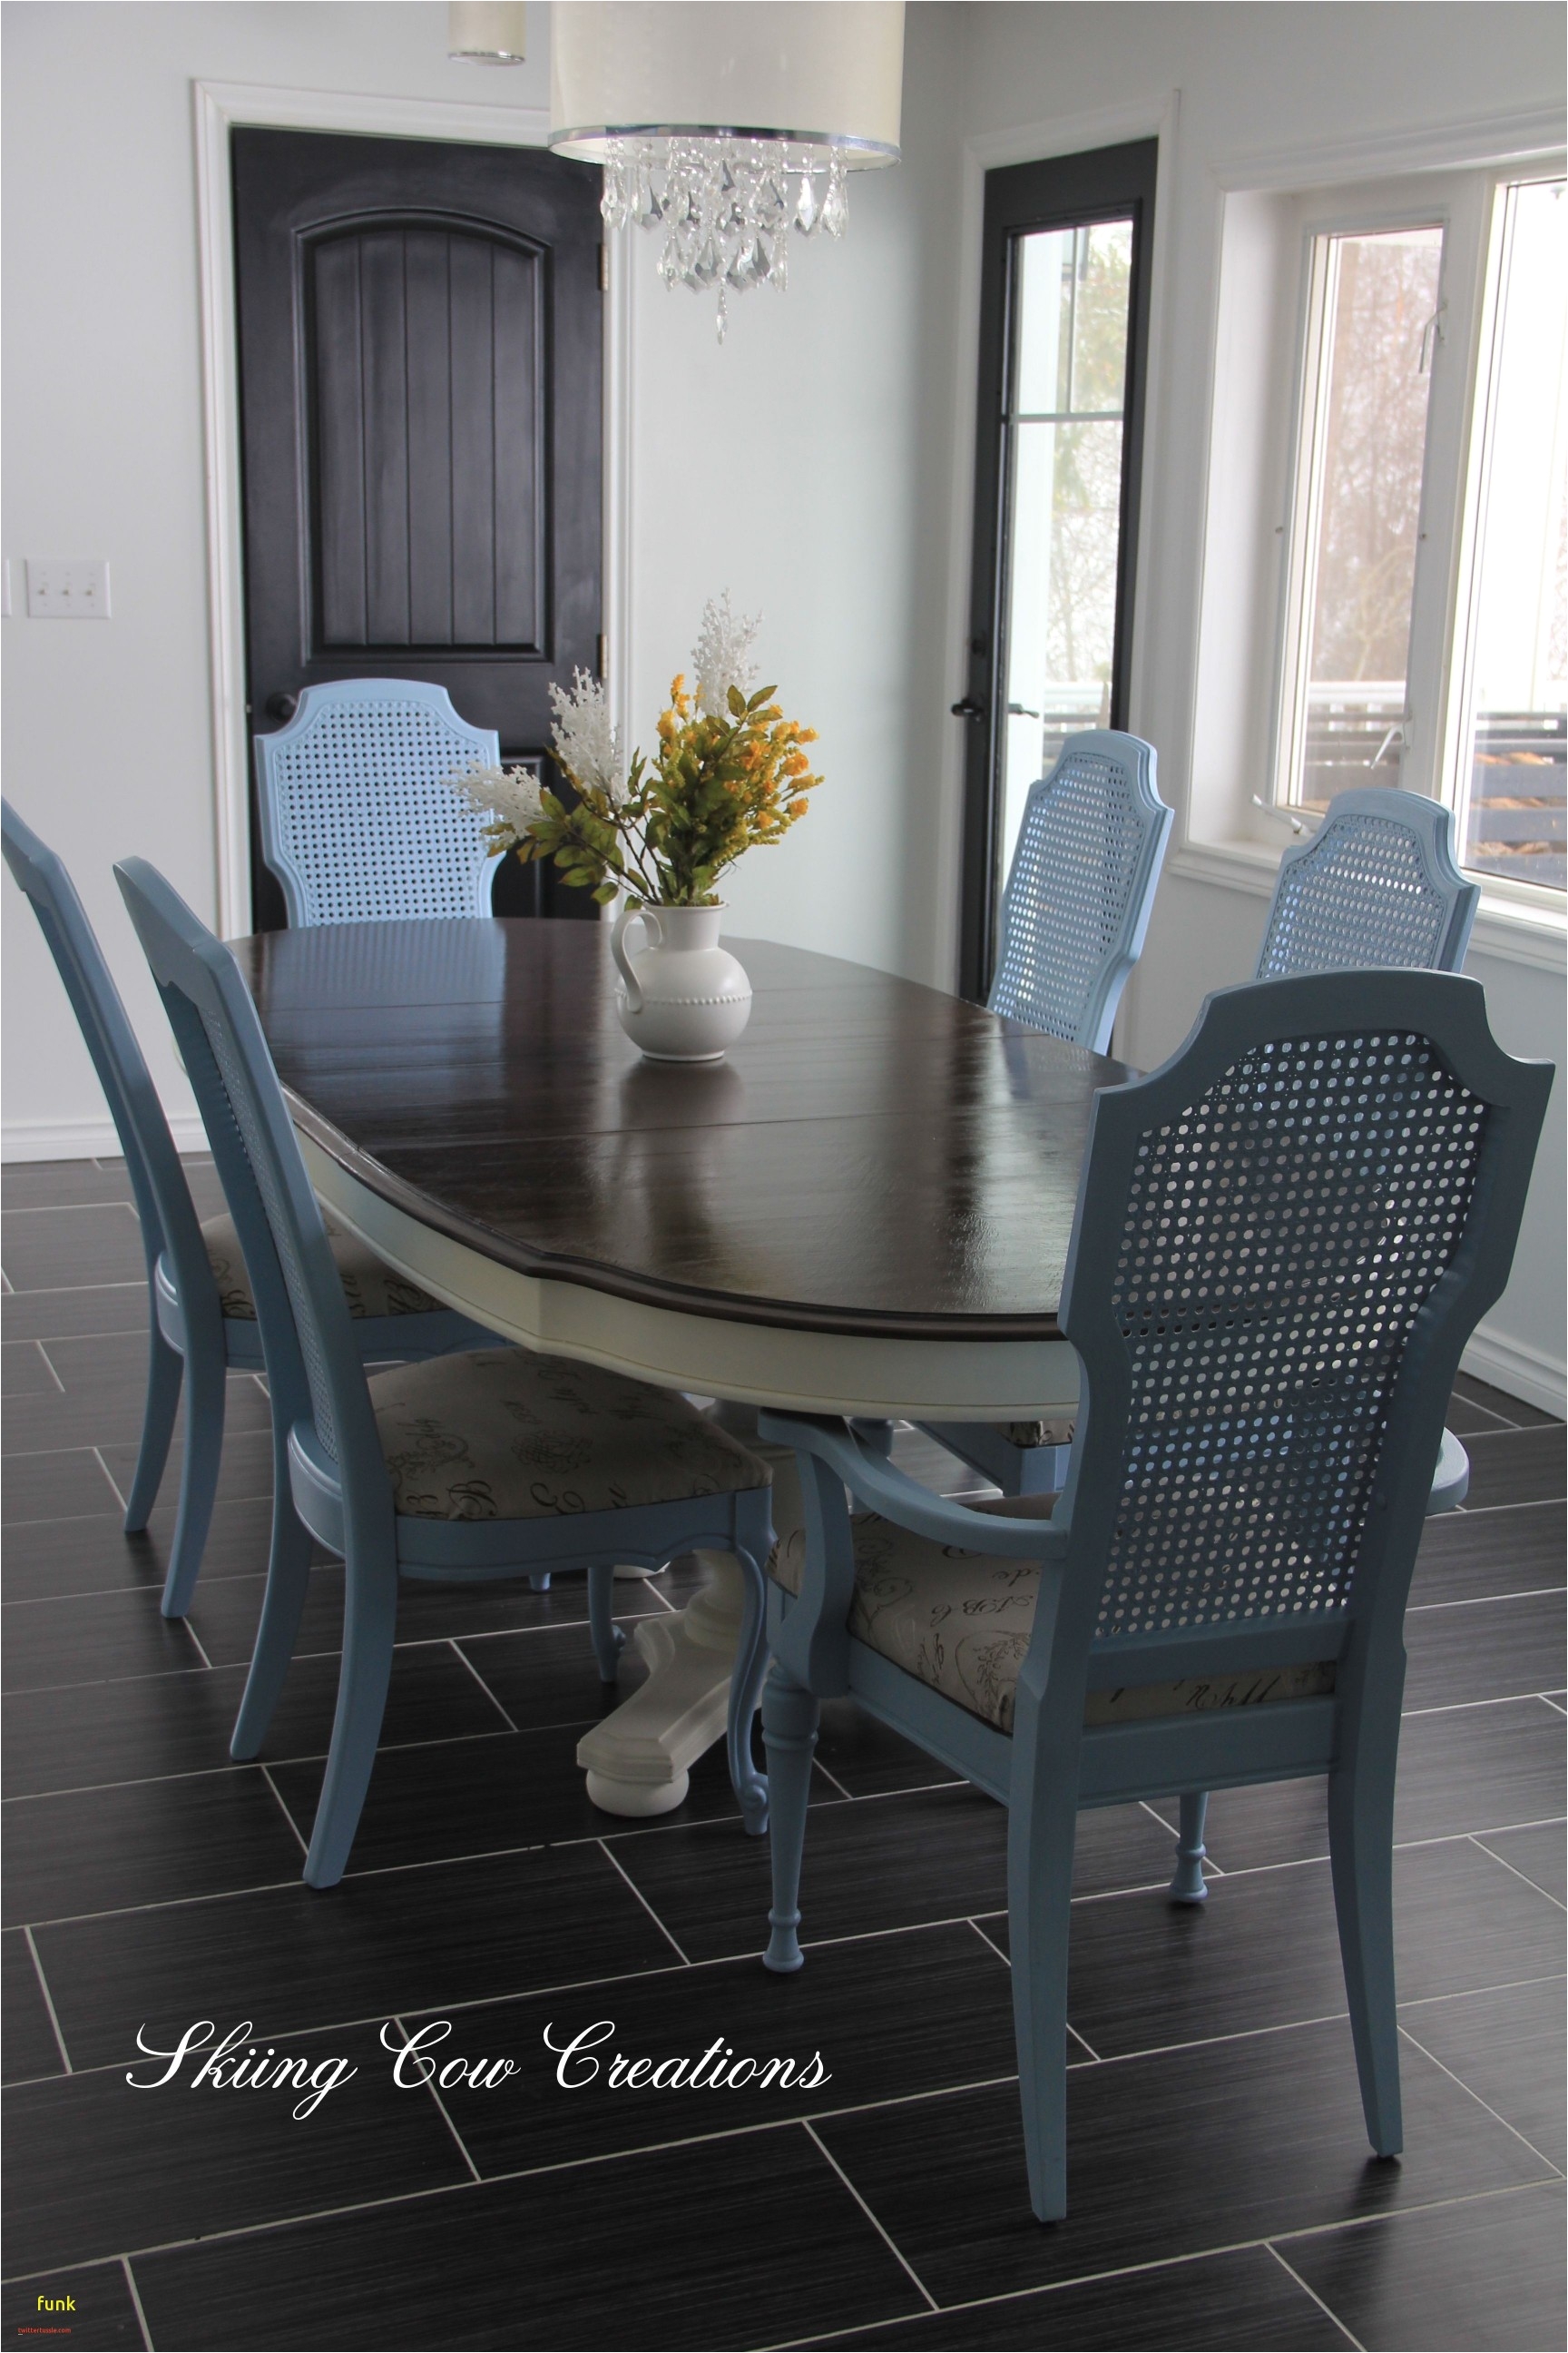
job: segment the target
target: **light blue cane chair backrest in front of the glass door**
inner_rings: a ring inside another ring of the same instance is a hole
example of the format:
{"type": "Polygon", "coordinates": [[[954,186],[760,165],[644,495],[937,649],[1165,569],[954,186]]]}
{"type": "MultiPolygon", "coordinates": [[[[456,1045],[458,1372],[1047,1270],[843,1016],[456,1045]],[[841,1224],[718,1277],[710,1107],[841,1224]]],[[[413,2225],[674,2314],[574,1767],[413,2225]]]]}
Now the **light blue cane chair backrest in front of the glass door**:
{"type": "Polygon", "coordinates": [[[1168,833],[1152,744],[1110,727],[1067,736],[1023,809],[1001,894],[994,1014],[1095,1054],[1110,1047],[1168,833]]]}

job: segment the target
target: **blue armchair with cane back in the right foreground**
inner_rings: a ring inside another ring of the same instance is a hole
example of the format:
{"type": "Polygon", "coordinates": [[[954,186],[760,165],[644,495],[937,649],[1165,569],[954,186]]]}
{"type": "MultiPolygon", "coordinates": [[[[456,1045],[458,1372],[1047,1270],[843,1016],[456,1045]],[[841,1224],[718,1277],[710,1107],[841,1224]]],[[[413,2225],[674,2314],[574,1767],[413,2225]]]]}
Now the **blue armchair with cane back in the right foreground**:
{"type": "MultiPolygon", "coordinates": [[[[1422,1515],[1465,1494],[1443,1407],[1507,1282],[1549,1064],[1476,981],[1229,988],[1152,1078],[1095,1096],[1063,1294],[1084,1419],[1060,1499],[969,1511],[837,1421],[795,1445],[804,1565],[769,1595],[766,1965],[797,1969],[818,1704],[853,1699],[1011,1809],[1009,1941],[1034,2212],[1067,2207],[1077,1812],[1328,1779],[1366,2129],[1401,2146],[1392,1831],[1422,1515]],[[870,1518],[851,1518],[844,1489],[870,1518]]],[[[1237,2085],[1246,2099],[1246,2085],[1237,2085]]]]}

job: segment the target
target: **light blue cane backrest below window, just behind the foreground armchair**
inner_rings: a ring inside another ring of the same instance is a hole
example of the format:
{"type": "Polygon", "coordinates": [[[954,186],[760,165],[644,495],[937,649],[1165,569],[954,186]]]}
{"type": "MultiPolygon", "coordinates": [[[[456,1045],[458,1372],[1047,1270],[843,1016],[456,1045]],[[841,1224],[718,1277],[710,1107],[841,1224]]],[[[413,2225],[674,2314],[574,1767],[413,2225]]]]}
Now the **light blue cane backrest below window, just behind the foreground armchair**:
{"type": "Polygon", "coordinates": [[[1338,793],[1312,840],[1279,861],[1260,981],[1371,965],[1458,972],[1481,885],[1453,856],[1453,814],[1422,793],[1338,793]]]}

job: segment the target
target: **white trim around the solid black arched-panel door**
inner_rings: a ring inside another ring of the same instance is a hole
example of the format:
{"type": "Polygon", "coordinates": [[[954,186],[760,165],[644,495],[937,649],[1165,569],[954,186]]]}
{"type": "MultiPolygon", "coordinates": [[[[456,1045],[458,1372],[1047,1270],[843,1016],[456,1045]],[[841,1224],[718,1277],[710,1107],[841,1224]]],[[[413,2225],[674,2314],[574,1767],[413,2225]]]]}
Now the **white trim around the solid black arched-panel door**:
{"type": "MultiPolygon", "coordinates": [[[[207,616],[212,666],[212,776],[216,805],[219,932],[252,927],[249,739],[244,725],[244,576],[240,506],[240,365],[235,341],[235,238],[228,132],[360,132],[378,139],[473,139],[482,146],[543,146],[550,118],[536,106],[456,106],[447,99],[378,99],[336,89],[268,89],[247,82],[193,82],[195,212],[202,285],[202,424],[207,468],[207,616]]],[[[604,304],[604,628],[611,704],[630,680],[630,268],[616,252],[604,304]]]]}

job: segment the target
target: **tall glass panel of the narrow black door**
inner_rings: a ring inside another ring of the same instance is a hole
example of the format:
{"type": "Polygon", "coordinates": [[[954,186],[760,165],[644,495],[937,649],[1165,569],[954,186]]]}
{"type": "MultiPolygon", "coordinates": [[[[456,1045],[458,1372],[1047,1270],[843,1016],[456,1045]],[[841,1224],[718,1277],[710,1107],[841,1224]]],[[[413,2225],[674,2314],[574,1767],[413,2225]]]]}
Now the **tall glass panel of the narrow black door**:
{"type": "Polygon", "coordinates": [[[1133,221],[1013,240],[997,880],[1065,736],[1110,725],[1133,221]]]}

